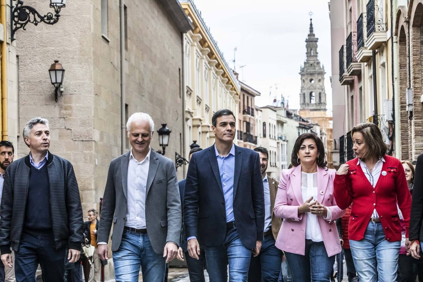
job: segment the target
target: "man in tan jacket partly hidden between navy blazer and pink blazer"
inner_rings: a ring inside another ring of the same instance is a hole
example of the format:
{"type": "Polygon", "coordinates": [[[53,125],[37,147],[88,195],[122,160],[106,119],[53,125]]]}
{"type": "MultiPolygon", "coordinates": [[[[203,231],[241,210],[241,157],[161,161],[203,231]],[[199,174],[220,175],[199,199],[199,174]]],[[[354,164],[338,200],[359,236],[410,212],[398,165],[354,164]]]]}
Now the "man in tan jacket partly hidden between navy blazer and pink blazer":
{"type": "Polygon", "coordinates": [[[273,214],[277,186],[275,178],[266,175],[269,152],[264,147],[257,147],[254,151],[260,156],[261,177],[264,187],[264,241],[261,245],[260,255],[251,257],[248,281],[274,281],[277,282],[282,263],[282,251],[275,246],[275,238],[279,233],[282,219],[273,214]]]}

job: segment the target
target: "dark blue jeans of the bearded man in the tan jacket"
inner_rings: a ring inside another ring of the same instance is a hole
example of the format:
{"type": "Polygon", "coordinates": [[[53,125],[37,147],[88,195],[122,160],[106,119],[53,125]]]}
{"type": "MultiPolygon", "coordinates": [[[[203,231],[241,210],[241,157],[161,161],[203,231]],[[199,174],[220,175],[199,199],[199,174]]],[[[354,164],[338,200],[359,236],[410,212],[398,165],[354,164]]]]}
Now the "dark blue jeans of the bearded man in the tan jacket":
{"type": "Polygon", "coordinates": [[[251,255],[248,281],[277,282],[281,263],[282,251],[275,246],[273,235],[265,236],[260,254],[257,257],[251,255]]]}

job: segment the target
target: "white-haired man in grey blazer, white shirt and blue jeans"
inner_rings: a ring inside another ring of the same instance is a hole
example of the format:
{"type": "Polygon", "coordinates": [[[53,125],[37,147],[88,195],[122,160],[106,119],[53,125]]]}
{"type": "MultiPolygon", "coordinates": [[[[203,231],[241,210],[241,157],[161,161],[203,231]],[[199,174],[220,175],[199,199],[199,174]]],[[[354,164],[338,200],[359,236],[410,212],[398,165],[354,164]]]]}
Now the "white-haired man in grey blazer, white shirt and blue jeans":
{"type": "Polygon", "coordinates": [[[104,190],[98,254],[112,251],[116,281],[164,281],[166,263],[178,252],[181,200],[175,164],[150,148],[154,122],[136,112],[126,123],[132,149],[110,162],[104,190]]]}

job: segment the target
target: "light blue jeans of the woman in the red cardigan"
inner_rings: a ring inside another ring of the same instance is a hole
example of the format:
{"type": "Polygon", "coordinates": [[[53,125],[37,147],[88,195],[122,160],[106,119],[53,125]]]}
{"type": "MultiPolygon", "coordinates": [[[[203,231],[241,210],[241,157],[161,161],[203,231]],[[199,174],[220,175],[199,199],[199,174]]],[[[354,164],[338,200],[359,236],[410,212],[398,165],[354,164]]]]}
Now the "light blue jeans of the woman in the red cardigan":
{"type": "Polygon", "coordinates": [[[349,246],[360,281],[396,281],[401,241],[387,241],[380,222],[369,222],[364,238],[349,240],[349,246]]]}

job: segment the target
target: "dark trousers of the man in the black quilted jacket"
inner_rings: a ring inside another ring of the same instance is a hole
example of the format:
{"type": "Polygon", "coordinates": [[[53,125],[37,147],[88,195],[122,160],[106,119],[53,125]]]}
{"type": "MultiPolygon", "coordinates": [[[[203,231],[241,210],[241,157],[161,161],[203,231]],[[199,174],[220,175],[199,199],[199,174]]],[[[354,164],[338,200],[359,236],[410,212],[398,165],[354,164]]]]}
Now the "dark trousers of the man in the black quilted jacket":
{"type": "Polygon", "coordinates": [[[53,236],[23,232],[19,250],[15,252],[15,277],[19,282],[35,282],[38,264],[44,282],[63,282],[66,247],[54,249],[53,236]]]}

